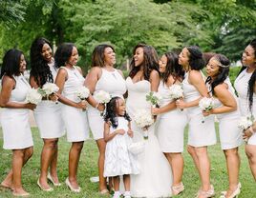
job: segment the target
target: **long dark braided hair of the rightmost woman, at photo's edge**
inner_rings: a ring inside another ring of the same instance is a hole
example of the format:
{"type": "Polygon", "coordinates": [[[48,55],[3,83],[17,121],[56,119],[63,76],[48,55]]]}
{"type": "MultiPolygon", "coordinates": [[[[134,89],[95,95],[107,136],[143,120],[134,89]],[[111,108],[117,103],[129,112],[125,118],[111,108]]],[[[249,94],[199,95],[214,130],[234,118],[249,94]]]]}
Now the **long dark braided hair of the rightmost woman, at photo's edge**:
{"type": "MultiPolygon", "coordinates": [[[[256,39],[253,39],[249,46],[251,46],[254,49],[254,59],[256,60],[256,39]]],[[[256,64],[256,63],[254,63],[256,64]]],[[[253,93],[255,91],[255,85],[256,83],[256,69],[254,69],[249,81],[248,81],[248,89],[247,89],[247,97],[249,100],[249,110],[252,111],[252,105],[253,105],[253,93]]]]}

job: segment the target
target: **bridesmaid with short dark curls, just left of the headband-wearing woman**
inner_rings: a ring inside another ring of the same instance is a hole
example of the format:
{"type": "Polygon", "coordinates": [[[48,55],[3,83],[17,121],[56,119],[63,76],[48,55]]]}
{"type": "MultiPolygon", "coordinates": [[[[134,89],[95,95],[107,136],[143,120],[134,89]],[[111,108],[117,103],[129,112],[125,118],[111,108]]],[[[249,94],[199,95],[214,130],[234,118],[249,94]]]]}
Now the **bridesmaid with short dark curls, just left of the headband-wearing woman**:
{"type": "Polygon", "coordinates": [[[210,160],[207,147],[216,144],[214,117],[207,116],[202,123],[203,114],[199,108],[202,97],[208,97],[208,90],[204,85],[203,54],[198,47],[186,47],[181,50],[179,64],[185,70],[182,81],[184,100],[178,100],[176,105],[180,109],[187,109],[188,117],[188,146],[187,151],[192,156],[199,171],[202,186],[198,191],[199,198],[214,196],[214,188],[210,185],[210,160]]]}

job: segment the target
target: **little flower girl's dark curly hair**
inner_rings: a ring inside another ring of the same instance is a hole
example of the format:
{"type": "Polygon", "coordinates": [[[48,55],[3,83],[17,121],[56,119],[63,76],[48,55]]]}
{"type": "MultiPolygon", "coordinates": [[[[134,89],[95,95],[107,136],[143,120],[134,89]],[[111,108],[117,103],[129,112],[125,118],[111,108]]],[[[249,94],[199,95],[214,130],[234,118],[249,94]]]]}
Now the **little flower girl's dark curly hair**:
{"type": "MultiPolygon", "coordinates": [[[[106,112],[104,115],[104,121],[110,122],[113,129],[117,129],[118,126],[118,115],[117,115],[117,106],[118,106],[118,100],[121,99],[120,97],[113,97],[109,103],[107,103],[106,112]]],[[[130,122],[131,118],[128,115],[127,112],[124,113],[123,117],[130,122]]]]}

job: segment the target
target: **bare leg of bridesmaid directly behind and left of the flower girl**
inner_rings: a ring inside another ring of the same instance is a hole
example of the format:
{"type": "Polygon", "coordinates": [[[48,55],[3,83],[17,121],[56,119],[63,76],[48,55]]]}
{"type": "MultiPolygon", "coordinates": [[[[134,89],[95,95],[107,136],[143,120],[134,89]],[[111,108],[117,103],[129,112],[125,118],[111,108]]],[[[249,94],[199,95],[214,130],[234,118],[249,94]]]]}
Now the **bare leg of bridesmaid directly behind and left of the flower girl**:
{"type": "Polygon", "coordinates": [[[107,189],[106,179],[103,177],[106,142],[104,141],[103,138],[98,139],[96,140],[96,145],[99,151],[97,166],[98,166],[98,177],[99,177],[99,191],[101,191],[103,189],[107,189]]]}

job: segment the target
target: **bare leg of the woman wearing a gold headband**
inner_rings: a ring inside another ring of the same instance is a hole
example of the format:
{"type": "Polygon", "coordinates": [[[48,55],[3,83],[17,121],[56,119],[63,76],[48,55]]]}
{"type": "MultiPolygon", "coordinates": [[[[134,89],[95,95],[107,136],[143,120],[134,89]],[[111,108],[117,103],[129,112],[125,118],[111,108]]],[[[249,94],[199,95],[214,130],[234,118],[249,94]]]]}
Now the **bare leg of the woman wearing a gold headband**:
{"type": "Polygon", "coordinates": [[[239,183],[239,168],[240,157],[238,148],[231,148],[224,150],[224,156],[226,161],[226,168],[228,173],[229,188],[226,192],[226,196],[230,196],[234,190],[238,187],[239,183]]]}

